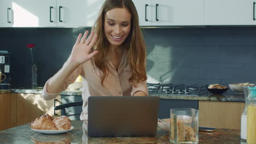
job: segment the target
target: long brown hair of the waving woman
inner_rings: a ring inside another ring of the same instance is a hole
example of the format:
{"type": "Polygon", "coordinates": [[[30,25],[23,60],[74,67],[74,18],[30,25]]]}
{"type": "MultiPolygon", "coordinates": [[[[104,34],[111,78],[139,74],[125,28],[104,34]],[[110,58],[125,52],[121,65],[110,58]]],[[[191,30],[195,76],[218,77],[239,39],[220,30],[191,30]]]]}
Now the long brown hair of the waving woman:
{"type": "Polygon", "coordinates": [[[102,5],[100,14],[94,27],[92,27],[92,31],[98,34],[95,44],[95,49],[98,51],[94,57],[95,65],[103,73],[101,80],[103,85],[103,80],[106,79],[106,75],[109,72],[107,61],[105,61],[109,49],[109,41],[104,34],[104,18],[107,11],[114,8],[125,8],[131,14],[131,30],[121,47],[126,53],[127,64],[129,64],[132,73],[129,82],[136,86],[137,83],[147,80],[146,45],[139,28],[138,13],[132,0],[106,0],[102,5]]]}

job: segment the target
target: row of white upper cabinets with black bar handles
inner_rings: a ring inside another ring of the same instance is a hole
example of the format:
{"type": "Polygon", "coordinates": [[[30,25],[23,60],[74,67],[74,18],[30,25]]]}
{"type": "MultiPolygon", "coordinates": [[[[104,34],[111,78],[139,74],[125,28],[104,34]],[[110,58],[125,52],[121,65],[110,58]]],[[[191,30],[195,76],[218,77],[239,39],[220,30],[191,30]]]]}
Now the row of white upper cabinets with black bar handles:
{"type": "MultiPolygon", "coordinates": [[[[105,0],[0,0],[0,27],[91,27],[105,0]]],[[[256,25],[256,0],[132,0],[140,26],[256,25]]]]}

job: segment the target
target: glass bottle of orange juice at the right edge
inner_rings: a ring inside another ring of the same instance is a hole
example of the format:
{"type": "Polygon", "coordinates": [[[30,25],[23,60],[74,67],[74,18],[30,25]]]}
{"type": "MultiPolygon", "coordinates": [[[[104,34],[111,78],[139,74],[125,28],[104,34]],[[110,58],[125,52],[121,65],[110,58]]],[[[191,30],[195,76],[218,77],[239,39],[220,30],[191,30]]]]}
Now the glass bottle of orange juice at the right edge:
{"type": "Polygon", "coordinates": [[[256,87],[247,87],[247,143],[256,143],[256,87]]]}

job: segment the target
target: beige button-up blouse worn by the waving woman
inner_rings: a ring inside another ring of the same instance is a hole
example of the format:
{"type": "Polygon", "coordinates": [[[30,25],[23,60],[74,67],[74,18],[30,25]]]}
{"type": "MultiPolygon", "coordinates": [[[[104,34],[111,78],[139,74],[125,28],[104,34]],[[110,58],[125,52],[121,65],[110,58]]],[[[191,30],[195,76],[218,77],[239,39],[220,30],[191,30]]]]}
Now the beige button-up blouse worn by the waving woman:
{"type": "MultiPolygon", "coordinates": [[[[88,119],[88,97],[90,96],[129,96],[134,95],[137,91],[143,91],[149,95],[147,90],[147,81],[138,83],[136,87],[132,86],[129,82],[131,72],[129,65],[126,64],[127,62],[124,56],[121,59],[118,71],[115,70],[111,61],[107,62],[109,64],[110,73],[103,81],[104,87],[101,85],[101,77],[103,75],[102,71],[98,69],[91,60],[85,62],[75,69],[62,87],[62,91],[65,91],[69,84],[73,83],[79,75],[83,76],[83,111],[80,115],[81,121],[87,121],[88,119]]],[[[63,67],[66,64],[67,62],[63,65],[63,67]]],[[[42,97],[45,100],[54,99],[61,93],[48,93],[46,86],[48,85],[49,80],[46,81],[42,92],[42,97]]]]}

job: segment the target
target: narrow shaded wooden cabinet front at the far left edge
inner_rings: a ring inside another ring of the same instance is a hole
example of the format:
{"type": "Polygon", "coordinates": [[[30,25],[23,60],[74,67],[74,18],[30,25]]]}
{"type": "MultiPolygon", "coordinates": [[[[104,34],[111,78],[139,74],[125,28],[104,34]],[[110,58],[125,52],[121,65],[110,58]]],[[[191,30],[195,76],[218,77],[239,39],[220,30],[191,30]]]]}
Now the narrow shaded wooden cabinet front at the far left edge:
{"type": "Polygon", "coordinates": [[[17,126],[16,93],[0,94],[0,130],[17,126]]]}

